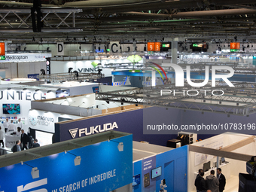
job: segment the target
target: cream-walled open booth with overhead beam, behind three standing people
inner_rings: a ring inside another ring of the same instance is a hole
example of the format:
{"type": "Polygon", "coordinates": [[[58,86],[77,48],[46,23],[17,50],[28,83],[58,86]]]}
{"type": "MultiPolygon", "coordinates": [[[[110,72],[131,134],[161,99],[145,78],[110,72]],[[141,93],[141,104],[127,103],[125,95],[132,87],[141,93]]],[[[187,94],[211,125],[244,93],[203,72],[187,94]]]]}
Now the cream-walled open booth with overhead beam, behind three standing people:
{"type": "Polygon", "coordinates": [[[246,162],[255,156],[255,147],[254,136],[229,132],[189,145],[187,191],[196,191],[194,181],[199,169],[205,170],[206,178],[211,170],[221,168],[227,180],[237,178],[239,172],[246,173],[246,162]]]}

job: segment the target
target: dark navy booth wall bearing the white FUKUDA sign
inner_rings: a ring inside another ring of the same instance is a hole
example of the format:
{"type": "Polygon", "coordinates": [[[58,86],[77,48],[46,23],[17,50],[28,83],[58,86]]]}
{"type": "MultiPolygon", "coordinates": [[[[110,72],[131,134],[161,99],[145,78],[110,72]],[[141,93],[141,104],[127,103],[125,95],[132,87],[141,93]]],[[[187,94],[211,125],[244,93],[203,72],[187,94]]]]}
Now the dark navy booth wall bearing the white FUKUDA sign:
{"type": "MultiPolygon", "coordinates": [[[[99,129],[103,129],[106,123],[111,123],[113,130],[117,130],[120,132],[133,133],[134,141],[146,141],[155,145],[163,145],[166,146],[166,142],[169,139],[174,139],[177,137],[177,133],[162,134],[156,136],[155,134],[145,134],[143,133],[143,126],[151,123],[175,123],[181,124],[181,110],[169,108],[144,108],[134,111],[126,111],[118,114],[109,114],[102,117],[95,117],[86,120],[75,120],[67,123],[55,123],[55,136],[56,142],[62,142],[69,139],[73,139],[69,130],[74,130],[76,133],[74,137],[79,137],[79,131],[81,129],[87,129],[87,132],[90,133],[90,127],[96,128],[98,126],[97,131],[99,129]],[[117,127],[114,126],[114,122],[117,127]],[[100,128],[99,128],[100,126],[100,128]]],[[[110,126],[108,126],[110,127],[110,126]]],[[[94,132],[96,134],[96,132],[94,132]]],[[[85,136],[84,133],[81,136],[85,136]]]]}

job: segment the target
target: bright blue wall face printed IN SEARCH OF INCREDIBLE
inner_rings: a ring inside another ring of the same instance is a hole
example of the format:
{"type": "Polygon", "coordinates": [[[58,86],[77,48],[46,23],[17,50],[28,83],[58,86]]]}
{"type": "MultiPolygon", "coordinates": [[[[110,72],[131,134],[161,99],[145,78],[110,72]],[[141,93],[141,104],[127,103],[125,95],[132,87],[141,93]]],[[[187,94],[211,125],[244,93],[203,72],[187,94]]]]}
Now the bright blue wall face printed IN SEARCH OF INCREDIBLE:
{"type": "Polygon", "coordinates": [[[74,164],[74,155],[62,152],[26,161],[29,166],[18,163],[3,167],[0,169],[0,191],[108,192],[130,184],[133,178],[133,136],[112,140],[114,142],[71,150],[70,153],[81,156],[78,166],[74,164]],[[123,151],[118,151],[117,142],[123,142],[123,151]],[[39,178],[32,178],[31,166],[38,167],[39,178]]]}

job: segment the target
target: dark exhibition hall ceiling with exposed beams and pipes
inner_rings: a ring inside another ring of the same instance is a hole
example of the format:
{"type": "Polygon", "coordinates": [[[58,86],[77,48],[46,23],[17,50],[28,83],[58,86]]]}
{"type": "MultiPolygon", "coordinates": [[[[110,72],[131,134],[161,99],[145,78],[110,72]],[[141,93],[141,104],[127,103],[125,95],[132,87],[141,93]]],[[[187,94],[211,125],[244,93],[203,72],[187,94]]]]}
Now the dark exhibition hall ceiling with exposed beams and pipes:
{"type": "Polygon", "coordinates": [[[255,0],[1,1],[0,40],[254,42],[255,5],[255,0]]]}

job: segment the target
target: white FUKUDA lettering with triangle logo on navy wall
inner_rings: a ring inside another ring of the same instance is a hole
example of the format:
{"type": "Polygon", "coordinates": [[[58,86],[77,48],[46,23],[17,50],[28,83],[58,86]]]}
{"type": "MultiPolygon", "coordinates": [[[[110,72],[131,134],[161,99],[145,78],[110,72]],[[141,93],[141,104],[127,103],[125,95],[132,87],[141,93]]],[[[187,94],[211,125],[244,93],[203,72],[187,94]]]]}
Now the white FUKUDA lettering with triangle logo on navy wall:
{"type": "Polygon", "coordinates": [[[72,136],[72,139],[75,139],[78,135],[78,137],[81,136],[90,136],[95,133],[102,133],[109,130],[118,129],[117,122],[114,123],[105,123],[103,125],[96,125],[96,126],[90,126],[90,127],[84,127],[84,128],[75,128],[69,130],[70,135],[72,136]]]}

